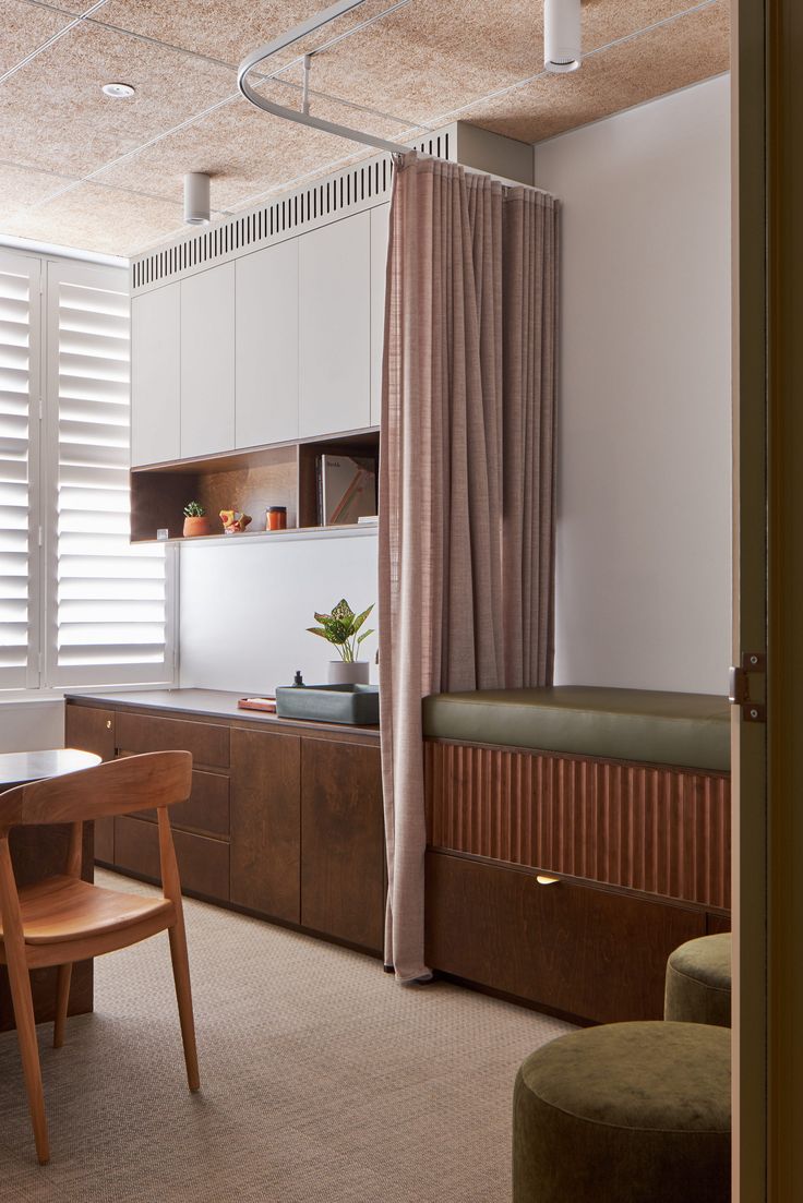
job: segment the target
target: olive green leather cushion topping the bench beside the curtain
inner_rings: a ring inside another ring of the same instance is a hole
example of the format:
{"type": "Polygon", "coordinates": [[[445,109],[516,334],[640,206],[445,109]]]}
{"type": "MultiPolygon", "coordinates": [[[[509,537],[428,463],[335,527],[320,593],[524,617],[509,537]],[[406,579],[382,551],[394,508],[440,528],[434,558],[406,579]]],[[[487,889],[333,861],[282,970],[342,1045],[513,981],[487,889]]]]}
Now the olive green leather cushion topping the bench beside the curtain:
{"type": "Polygon", "coordinates": [[[728,771],[731,709],[705,693],[551,686],[424,699],[424,734],[461,743],[728,771]]]}

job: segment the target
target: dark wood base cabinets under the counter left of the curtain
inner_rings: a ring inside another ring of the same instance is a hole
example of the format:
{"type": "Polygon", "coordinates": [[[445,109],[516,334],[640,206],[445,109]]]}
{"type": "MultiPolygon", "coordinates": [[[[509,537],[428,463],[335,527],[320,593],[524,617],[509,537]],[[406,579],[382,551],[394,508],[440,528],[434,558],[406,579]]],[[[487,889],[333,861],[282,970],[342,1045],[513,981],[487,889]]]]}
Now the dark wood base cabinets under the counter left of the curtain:
{"type": "MultiPolygon", "coordinates": [[[[132,695],[108,709],[69,699],[66,742],[105,759],[191,752],[193,793],[171,810],[187,893],[382,953],[377,731],[250,718],[236,709],[231,717],[177,716],[132,695]]],[[[116,818],[98,860],[157,879],[155,812],[116,818]]]]}

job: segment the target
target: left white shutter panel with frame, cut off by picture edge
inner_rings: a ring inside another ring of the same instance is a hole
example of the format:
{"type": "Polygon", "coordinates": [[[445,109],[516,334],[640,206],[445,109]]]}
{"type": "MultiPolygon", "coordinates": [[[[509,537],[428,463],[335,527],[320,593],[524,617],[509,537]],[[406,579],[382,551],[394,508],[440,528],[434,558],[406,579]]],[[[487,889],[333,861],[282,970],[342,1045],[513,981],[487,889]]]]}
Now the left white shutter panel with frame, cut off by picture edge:
{"type": "Polygon", "coordinates": [[[0,251],[0,688],[39,685],[40,273],[0,251]]]}

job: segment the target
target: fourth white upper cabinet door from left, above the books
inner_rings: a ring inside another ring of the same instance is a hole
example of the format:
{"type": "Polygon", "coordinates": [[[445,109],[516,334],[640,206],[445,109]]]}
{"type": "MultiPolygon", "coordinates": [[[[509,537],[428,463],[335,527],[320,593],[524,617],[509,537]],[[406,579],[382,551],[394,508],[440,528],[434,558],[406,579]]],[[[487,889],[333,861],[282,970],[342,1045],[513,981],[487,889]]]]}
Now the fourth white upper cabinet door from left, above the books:
{"type": "Polygon", "coordinates": [[[371,214],[299,239],[299,434],[371,425],[371,214]]]}

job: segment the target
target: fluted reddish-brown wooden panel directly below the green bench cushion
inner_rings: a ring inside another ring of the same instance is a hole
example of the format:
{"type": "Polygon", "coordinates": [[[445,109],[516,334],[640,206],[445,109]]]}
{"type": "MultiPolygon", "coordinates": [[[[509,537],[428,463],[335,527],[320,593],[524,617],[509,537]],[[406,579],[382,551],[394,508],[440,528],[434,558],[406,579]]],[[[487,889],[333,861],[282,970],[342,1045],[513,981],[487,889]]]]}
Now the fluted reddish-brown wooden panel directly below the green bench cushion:
{"type": "Polygon", "coordinates": [[[731,905],[728,774],[427,740],[426,796],[435,848],[731,905]]]}

